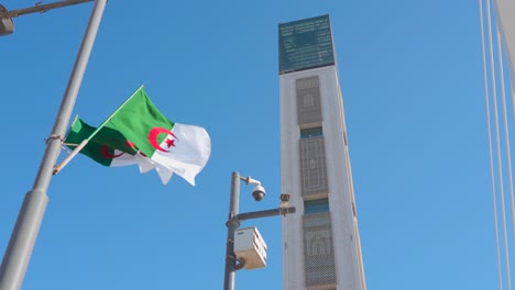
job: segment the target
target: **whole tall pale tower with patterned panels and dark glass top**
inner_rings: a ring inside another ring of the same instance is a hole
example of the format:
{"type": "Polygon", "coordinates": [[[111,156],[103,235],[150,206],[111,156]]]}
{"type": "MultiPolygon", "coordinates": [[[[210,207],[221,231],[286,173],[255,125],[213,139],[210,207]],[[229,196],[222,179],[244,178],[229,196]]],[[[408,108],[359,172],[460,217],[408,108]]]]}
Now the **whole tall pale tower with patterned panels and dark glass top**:
{"type": "Polygon", "coordinates": [[[278,25],[284,290],[364,290],[329,15],[278,25]]]}

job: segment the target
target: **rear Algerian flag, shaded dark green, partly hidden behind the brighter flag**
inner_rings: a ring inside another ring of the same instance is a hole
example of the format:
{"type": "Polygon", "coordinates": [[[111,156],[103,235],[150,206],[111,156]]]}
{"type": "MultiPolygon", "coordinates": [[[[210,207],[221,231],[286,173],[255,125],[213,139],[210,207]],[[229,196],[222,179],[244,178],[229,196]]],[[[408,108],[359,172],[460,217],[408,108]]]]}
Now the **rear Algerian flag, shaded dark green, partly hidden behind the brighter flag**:
{"type": "Polygon", "coordinates": [[[172,178],[171,170],[156,165],[150,158],[143,156],[122,135],[106,134],[109,131],[102,130],[94,135],[95,131],[97,131],[96,127],[88,125],[76,116],[65,143],[69,148],[75,149],[84,140],[88,140],[88,143],[80,149],[80,153],[101,165],[110,167],[139,165],[140,172],[142,174],[146,174],[155,168],[164,185],[172,178]],[[114,149],[113,146],[120,149],[114,149]]]}

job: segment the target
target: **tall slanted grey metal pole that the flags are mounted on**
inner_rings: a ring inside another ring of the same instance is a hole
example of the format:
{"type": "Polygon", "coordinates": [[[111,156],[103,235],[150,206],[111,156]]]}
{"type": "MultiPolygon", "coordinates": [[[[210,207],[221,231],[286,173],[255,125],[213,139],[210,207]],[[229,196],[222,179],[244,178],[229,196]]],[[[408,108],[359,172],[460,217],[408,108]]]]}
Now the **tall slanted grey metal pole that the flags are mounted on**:
{"type": "Polygon", "coordinates": [[[0,265],[0,290],[18,290],[21,288],[26,272],[32,249],[40,231],[40,225],[45,213],[48,197],[50,180],[55,161],[59,155],[62,138],[68,125],[75,100],[83,80],[84,71],[91,53],[98,26],[106,7],[107,0],[96,0],[95,7],[86,29],[83,44],[77,54],[74,69],[68,80],[59,111],[52,130],[52,135],[46,143],[46,149],[37,171],[32,190],[25,194],[17,224],[12,231],[8,248],[0,265]]]}

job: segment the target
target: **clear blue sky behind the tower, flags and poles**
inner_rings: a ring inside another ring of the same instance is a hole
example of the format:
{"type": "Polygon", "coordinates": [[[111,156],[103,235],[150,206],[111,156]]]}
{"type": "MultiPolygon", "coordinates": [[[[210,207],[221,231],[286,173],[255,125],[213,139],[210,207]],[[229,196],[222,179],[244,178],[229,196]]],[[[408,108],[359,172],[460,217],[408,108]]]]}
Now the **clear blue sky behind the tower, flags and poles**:
{"type": "MultiPolygon", "coordinates": [[[[0,253],[91,8],[15,19],[0,38],[0,253]]],[[[98,125],[145,85],[171,120],[207,129],[211,158],[196,187],[75,158],[52,180],[23,289],[221,289],[231,172],[267,190],[256,203],[242,185],[241,211],[278,205],[277,24],[326,13],[368,288],[498,288],[476,1],[111,0],[74,114],[98,125]]],[[[238,271],[237,289],[281,289],[281,217],[243,225],[269,266],[238,271]]]]}

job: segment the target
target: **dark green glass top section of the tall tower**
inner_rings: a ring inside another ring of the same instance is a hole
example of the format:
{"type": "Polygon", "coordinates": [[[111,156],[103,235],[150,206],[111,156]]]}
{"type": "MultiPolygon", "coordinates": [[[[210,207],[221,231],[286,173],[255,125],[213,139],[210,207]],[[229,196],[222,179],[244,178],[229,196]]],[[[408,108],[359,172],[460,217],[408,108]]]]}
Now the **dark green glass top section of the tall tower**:
{"type": "Polygon", "coordinates": [[[335,65],[329,15],[282,23],[280,75],[335,65]]]}

